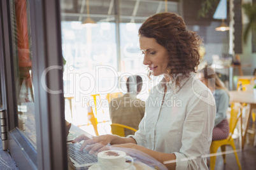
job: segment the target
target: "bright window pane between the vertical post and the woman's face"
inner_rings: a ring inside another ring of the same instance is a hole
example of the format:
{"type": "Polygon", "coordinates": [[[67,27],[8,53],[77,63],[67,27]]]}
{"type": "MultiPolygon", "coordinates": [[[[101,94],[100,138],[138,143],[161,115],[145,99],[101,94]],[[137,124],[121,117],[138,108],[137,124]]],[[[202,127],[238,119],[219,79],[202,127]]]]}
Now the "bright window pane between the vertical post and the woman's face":
{"type": "Polygon", "coordinates": [[[148,16],[166,10],[178,13],[178,3],[167,2],[166,4],[165,1],[153,0],[120,1],[120,71],[126,74],[141,75],[143,88],[137,97],[143,100],[146,100],[148,91],[162,77],[153,77],[153,81],[148,80],[146,66],[143,65],[143,55],[139,50],[138,29],[148,16]]]}

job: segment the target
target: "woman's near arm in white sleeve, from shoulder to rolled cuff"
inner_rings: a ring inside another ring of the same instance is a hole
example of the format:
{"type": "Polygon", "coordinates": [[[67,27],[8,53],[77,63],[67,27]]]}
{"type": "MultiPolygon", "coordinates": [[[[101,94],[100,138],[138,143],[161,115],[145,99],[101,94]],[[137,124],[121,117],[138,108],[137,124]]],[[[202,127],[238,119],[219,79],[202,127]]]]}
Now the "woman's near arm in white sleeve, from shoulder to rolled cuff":
{"type": "Polygon", "coordinates": [[[181,148],[174,152],[177,169],[207,169],[206,159],[211,145],[216,106],[210,90],[194,95],[187,103],[181,148]]]}

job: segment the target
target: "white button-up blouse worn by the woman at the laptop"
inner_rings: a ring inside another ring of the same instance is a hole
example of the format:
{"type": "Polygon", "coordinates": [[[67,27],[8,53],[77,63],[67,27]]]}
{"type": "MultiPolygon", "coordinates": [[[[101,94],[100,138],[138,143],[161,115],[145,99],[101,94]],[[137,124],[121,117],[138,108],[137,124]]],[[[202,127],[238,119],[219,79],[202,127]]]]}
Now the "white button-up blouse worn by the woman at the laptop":
{"type": "Polygon", "coordinates": [[[209,153],[215,114],[213,95],[199,79],[190,75],[176,90],[163,79],[150,91],[139,130],[127,137],[151,150],[175,154],[176,170],[208,169],[204,155],[209,153]]]}

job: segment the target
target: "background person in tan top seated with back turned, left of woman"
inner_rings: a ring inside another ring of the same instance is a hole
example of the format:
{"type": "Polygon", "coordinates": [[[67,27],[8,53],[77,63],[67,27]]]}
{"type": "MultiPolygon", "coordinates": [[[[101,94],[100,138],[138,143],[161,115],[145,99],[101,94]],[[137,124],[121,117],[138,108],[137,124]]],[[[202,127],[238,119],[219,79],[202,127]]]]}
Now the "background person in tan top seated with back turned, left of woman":
{"type": "MultiPolygon", "coordinates": [[[[110,119],[112,123],[124,124],[138,129],[139,122],[145,114],[145,101],[136,96],[141,91],[143,82],[139,75],[128,77],[126,86],[127,93],[110,101],[110,119]]],[[[125,136],[134,134],[134,131],[125,129],[125,136]]]]}

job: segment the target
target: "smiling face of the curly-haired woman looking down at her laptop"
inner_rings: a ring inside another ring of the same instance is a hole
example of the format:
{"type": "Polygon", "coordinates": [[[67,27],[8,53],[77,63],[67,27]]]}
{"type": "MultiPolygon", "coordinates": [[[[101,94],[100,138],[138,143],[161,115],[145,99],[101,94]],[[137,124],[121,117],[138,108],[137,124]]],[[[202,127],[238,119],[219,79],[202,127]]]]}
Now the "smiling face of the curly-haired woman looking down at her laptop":
{"type": "Polygon", "coordinates": [[[148,66],[152,75],[164,74],[169,62],[167,49],[148,37],[139,37],[139,46],[144,54],[143,64],[148,66]]]}

